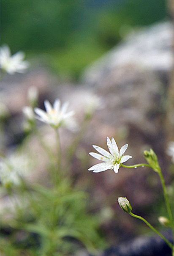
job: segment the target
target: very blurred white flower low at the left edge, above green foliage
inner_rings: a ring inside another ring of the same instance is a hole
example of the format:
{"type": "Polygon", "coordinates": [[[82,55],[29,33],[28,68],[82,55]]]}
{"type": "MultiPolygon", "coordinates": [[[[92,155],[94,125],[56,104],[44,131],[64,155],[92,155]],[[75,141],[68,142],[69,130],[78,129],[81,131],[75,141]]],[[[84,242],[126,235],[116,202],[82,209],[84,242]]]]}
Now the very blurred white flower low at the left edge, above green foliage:
{"type": "Polygon", "coordinates": [[[20,184],[20,176],[29,169],[29,160],[24,155],[13,154],[0,162],[0,181],[3,186],[20,184]]]}

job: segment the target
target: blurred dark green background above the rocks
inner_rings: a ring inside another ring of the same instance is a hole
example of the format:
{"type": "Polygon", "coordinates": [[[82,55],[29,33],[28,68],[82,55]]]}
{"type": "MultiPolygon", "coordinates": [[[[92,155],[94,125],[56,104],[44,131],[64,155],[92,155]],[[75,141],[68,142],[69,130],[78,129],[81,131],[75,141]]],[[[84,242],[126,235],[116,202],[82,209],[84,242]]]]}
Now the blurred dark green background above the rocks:
{"type": "Polygon", "coordinates": [[[165,0],[1,0],[1,44],[76,79],[119,43],[122,25],[166,17],[165,0]]]}

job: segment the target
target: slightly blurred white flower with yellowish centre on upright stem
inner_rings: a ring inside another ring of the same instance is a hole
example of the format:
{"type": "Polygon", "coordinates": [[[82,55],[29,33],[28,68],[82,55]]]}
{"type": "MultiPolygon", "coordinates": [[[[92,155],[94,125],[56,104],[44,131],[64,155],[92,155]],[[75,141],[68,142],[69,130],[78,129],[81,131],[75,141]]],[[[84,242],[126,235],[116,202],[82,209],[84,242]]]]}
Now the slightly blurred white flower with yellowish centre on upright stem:
{"type": "Polygon", "coordinates": [[[53,107],[48,100],[44,101],[46,112],[38,107],[34,108],[34,111],[38,116],[36,118],[44,123],[50,124],[53,128],[57,129],[60,126],[67,127],[71,131],[76,131],[77,124],[73,119],[74,111],[66,113],[68,109],[68,102],[65,102],[60,107],[60,100],[56,99],[53,107]]]}

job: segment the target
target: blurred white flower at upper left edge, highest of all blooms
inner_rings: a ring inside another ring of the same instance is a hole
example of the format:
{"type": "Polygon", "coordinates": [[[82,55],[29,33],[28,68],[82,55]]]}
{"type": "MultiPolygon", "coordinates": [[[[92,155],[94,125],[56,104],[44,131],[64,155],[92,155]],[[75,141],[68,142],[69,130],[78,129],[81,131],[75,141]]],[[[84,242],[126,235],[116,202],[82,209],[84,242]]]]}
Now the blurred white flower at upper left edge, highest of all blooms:
{"type": "Polygon", "coordinates": [[[0,49],[0,68],[4,69],[8,74],[24,73],[29,66],[27,61],[23,61],[24,58],[24,52],[16,52],[11,55],[8,45],[3,45],[0,49]]]}

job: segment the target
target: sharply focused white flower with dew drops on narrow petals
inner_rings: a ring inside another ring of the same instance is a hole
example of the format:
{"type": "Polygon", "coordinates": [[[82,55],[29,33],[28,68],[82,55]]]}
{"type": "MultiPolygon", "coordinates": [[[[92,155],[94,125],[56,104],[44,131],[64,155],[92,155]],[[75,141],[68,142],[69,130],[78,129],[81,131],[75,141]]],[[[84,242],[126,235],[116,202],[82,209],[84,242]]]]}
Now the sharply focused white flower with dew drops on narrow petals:
{"type": "Polygon", "coordinates": [[[106,171],[108,169],[114,169],[114,172],[117,173],[120,167],[120,164],[132,158],[131,156],[123,156],[126,149],[128,148],[128,144],[125,144],[124,146],[122,146],[119,152],[114,138],[110,140],[107,137],[107,145],[111,154],[105,149],[102,149],[101,147],[93,145],[93,148],[102,155],[94,152],[90,152],[89,154],[98,160],[102,160],[103,163],[93,165],[91,168],[88,169],[88,171],[93,171],[93,173],[99,173],[101,171],[106,171]]]}

